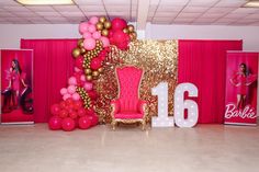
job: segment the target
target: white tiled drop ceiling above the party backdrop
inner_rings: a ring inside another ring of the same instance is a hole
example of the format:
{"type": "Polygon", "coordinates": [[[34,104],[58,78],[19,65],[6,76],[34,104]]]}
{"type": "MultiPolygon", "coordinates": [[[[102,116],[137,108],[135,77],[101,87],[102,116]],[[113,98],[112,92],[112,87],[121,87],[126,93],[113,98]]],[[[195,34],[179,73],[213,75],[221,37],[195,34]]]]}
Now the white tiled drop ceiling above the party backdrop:
{"type": "Polygon", "coordinates": [[[92,15],[153,24],[259,25],[247,0],[74,0],[74,5],[22,5],[0,1],[0,24],[78,24],[92,15]]]}

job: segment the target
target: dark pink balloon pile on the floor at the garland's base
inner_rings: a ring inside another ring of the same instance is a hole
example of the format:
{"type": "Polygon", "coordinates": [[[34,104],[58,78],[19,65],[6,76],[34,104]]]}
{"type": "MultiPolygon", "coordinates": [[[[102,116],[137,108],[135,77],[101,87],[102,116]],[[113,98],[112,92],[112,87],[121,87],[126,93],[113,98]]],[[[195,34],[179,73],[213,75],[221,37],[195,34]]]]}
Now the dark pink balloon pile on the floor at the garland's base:
{"type": "Polygon", "coordinates": [[[92,108],[86,110],[80,101],[74,101],[71,98],[52,105],[50,113],[53,116],[48,127],[53,130],[70,131],[76,127],[88,129],[95,126],[99,121],[92,108]]]}

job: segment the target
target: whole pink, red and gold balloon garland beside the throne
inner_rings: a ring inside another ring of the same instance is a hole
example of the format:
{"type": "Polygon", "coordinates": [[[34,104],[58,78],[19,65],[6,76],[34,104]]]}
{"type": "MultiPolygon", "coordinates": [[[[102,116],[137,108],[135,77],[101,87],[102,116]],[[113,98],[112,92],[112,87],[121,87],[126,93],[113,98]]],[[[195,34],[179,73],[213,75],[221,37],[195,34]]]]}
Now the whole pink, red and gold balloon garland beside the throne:
{"type": "Polygon", "coordinates": [[[60,90],[63,101],[50,107],[53,116],[48,126],[53,130],[88,129],[99,123],[94,111],[98,94],[92,81],[103,71],[103,61],[112,46],[127,50],[128,44],[137,38],[134,26],[120,18],[109,21],[104,16],[92,16],[79,24],[79,33],[82,38],[72,50],[75,72],[68,79],[68,87],[60,90]]]}

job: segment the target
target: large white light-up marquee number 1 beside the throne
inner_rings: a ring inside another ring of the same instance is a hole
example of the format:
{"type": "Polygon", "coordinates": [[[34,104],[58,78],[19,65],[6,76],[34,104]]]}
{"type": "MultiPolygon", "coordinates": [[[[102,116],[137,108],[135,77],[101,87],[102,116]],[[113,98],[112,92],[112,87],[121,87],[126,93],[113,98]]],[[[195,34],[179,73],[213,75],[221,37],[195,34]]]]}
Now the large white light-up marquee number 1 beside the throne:
{"type": "Polygon", "coordinates": [[[158,116],[151,117],[151,126],[173,127],[173,117],[168,117],[168,83],[160,82],[151,89],[151,94],[158,96],[158,116]]]}

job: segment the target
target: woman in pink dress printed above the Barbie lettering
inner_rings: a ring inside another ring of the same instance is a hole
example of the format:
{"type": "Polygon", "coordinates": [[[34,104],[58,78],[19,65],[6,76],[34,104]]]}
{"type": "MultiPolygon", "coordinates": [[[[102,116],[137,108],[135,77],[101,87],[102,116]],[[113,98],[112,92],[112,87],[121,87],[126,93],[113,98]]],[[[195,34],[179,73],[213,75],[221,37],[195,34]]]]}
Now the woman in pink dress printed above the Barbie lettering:
{"type": "Polygon", "coordinates": [[[230,83],[236,87],[237,92],[237,108],[244,108],[247,104],[247,94],[249,94],[249,85],[257,80],[257,76],[249,73],[246,64],[239,65],[239,71],[230,79],[230,83]]]}

